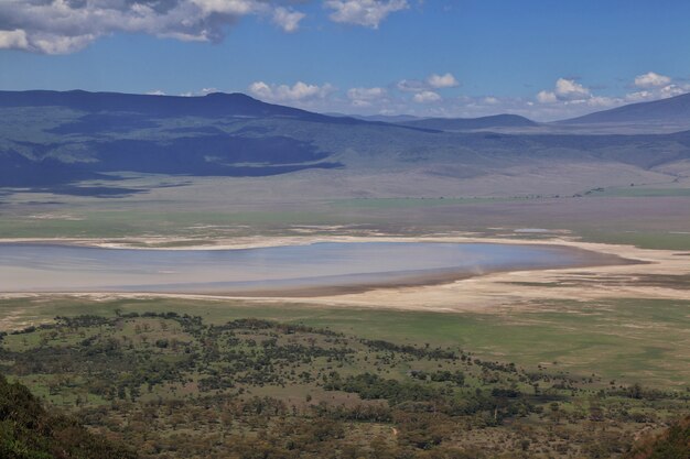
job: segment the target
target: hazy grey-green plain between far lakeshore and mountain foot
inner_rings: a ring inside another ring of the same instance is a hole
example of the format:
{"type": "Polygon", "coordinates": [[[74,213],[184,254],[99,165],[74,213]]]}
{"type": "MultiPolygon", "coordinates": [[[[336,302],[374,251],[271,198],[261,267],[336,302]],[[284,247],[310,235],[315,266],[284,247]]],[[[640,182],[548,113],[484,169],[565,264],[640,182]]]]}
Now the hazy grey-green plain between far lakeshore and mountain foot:
{"type": "MultiPolygon", "coordinates": [[[[145,184],[153,179],[139,181],[145,184]]],[[[182,178],[177,181],[182,183],[182,178]]],[[[298,199],[290,196],[290,189],[284,198],[280,192],[263,196],[262,186],[267,184],[258,179],[195,179],[182,187],[116,199],[21,193],[4,199],[0,196],[0,203],[4,201],[0,204],[0,239],[129,239],[137,243],[160,238],[184,244],[305,233],[467,232],[526,239],[543,234],[515,231],[540,228],[591,242],[690,249],[687,196],[690,188],[606,188],[583,197],[436,195],[298,199]]]]}

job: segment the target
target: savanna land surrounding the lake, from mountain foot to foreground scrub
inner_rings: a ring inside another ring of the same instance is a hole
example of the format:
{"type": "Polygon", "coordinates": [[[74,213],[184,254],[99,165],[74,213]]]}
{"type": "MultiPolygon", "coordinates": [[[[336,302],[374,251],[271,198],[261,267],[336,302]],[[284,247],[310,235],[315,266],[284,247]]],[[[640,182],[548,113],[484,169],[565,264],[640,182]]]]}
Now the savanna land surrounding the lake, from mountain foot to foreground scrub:
{"type": "Polygon", "coordinates": [[[142,249],[527,242],[628,262],[285,297],[6,288],[3,373],[87,426],[65,436],[108,439],[104,457],[647,457],[690,409],[683,182],[306,200],[235,197],[236,183],[14,193],[0,233],[142,249]]]}

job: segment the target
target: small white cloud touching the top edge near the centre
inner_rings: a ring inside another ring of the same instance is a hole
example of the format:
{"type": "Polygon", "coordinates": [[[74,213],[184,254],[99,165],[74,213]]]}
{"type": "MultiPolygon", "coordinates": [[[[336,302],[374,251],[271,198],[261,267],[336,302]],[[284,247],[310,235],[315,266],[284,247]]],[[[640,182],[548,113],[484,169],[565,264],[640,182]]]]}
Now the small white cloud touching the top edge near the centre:
{"type": "Polygon", "coordinates": [[[378,29],[388,14],[406,10],[407,0],[326,0],[325,7],[333,10],[334,22],[378,29]]]}

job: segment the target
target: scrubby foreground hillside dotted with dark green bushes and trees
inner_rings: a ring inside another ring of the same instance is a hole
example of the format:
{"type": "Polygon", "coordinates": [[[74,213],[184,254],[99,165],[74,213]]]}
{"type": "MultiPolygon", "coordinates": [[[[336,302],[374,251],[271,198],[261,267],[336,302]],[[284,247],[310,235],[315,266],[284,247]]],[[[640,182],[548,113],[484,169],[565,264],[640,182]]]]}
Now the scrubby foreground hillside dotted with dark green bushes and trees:
{"type": "MultiPolygon", "coordinates": [[[[662,429],[690,400],[556,363],[485,359],[454,329],[433,334],[431,315],[391,327],[402,316],[290,308],[282,323],[225,321],[219,310],[207,321],[131,310],[165,306],[109,302],[98,310],[108,318],[4,335],[0,368],[143,458],[616,458],[643,425],[662,429]]],[[[463,330],[481,331],[481,319],[465,319],[463,330]]]]}

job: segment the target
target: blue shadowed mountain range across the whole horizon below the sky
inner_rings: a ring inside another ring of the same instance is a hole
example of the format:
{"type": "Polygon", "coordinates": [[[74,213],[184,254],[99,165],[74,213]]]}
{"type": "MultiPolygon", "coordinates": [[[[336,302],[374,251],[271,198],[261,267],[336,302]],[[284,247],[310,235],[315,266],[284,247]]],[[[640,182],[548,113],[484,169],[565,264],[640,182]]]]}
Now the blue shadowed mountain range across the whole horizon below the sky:
{"type": "Polygon", "coordinates": [[[570,192],[666,181],[689,168],[690,131],[591,134],[558,127],[682,123],[690,121],[689,106],[690,95],[636,103],[556,123],[551,132],[515,114],[367,120],[242,94],[0,91],[0,189],[88,194],[84,181],[116,184],[132,174],[304,181],[309,171],[321,184],[314,193],[341,179],[348,181],[342,190],[356,182],[363,195],[494,194],[492,186],[525,194],[547,183],[552,186],[543,189],[570,192]]]}

